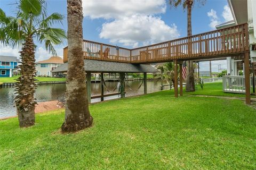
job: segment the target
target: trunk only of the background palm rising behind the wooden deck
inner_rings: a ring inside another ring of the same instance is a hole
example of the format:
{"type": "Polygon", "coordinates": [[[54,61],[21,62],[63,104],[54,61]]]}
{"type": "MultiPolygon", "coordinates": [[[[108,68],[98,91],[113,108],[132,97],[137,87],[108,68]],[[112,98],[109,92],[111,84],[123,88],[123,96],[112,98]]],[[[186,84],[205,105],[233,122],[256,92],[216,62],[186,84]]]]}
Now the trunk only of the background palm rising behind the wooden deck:
{"type": "MultiPolygon", "coordinates": [[[[192,27],[191,27],[191,8],[192,8],[192,5],[193,5],[193,0],[187,0],[188,37],[192,35],[192,27]]],[[[191,42],[191,39],[189,39],[189,41],[191,42]]],[[[186,91],[195,91],[195,78],[194,78],[193,61],[187,61],[186,91]]]]}

